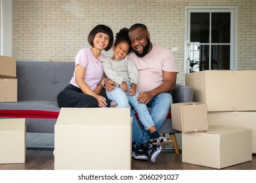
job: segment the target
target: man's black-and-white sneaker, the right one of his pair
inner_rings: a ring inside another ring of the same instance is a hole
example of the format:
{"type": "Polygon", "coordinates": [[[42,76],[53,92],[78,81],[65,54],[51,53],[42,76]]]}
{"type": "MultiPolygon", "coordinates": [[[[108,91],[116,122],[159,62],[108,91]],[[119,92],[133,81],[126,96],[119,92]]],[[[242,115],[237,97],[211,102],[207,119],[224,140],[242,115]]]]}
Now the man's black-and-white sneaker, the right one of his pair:
{"type": "Polygon", "coordinates": [[[148,155],[150,161],[152,163],[156,163],[156,158],[158,158],[158,155],[161,152],[161,146],[154,146],[150,141],[143,142],[142,144],[140,144],[140,146],[144,150],[146,155],[148,155]]]}

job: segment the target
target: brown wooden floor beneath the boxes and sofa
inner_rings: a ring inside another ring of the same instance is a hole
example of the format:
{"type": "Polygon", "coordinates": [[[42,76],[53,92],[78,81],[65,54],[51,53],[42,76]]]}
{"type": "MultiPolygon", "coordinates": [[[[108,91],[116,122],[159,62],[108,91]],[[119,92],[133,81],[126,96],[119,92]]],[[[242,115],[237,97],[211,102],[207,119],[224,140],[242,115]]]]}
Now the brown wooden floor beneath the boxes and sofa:
{"type": "MultiPolygon", "coordinates": [[[[210,158],[210,157],[209,157],[210,158]]],[[[132,159],[133,170],[211,170],[209,167],[182,163],[182,155],[161,152],[156,163],[132,159]]],[[[256,154],[252,161],[224,168],[225,170],[256,170],[256,154]]],[[[0,170],[54,170],[53,150],[27,150],[26,163],[0,164],[0,170]]]]}

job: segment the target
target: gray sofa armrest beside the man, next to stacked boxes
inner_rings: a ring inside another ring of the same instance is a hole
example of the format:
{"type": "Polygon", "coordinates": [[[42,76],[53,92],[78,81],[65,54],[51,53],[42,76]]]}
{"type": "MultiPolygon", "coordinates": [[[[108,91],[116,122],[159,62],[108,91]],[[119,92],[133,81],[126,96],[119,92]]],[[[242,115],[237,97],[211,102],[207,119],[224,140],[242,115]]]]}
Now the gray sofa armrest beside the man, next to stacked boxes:
{"type": "Polygon", "coordinates": [[[193,88],[176,84],[173,90],[173,103],[186,103],[193,101],[193,88]]]}

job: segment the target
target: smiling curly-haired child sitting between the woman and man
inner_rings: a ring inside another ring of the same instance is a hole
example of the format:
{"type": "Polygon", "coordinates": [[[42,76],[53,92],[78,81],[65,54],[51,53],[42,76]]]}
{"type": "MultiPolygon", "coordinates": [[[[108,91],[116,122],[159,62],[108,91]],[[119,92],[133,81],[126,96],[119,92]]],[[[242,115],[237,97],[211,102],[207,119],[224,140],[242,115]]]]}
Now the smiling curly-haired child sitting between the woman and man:
{"type": "Polygon", "coordinates": [[[139,73],[133,61],[127,58],[127,54],[131,52],[128,31],[129,29],[123,28],[116,34],[112,59],[101,59],[106,76],[119,84],[114,86],[115,90],[106,92],[106,95],[116,103],[118,108],[131,108],[131,106],[135,108],[144,129],[152,135],[152,144],[171,144],[172,141],[161,137],[156,130],[146,105],[137,100],[139,93],[136,92],[136,86],[139,84],[139,73]]]}

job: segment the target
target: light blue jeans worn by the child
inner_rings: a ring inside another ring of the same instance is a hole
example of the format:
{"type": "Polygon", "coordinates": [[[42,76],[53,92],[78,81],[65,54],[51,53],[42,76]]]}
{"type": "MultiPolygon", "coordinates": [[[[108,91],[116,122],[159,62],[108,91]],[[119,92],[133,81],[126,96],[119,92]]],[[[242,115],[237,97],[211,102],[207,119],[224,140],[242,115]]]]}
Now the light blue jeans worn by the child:
{"type": "MultiPolygon", "coordinates": [[[[128,88],[131,88],[129,84],[128,88]]],[[[113,100],[118,108],[131,108],[133,107],[138,113],[140,122],[144,126],[144,130],[147,131],[154,124],[154,120],[152,120],[148,108],[145,104],[139,103],[137,100],[137,92],[136,95],[130,96],[129,93],[121,90],[121,87],[114,86],[115,90],[112,92],[106,92],[108,99],[113,100]],[[130,106],[131,105],[131,106],[130,106]]]]}

